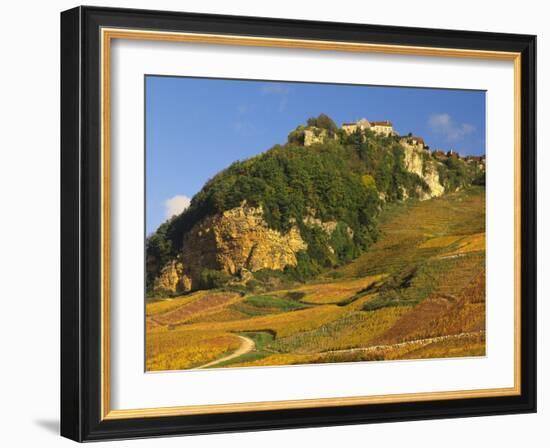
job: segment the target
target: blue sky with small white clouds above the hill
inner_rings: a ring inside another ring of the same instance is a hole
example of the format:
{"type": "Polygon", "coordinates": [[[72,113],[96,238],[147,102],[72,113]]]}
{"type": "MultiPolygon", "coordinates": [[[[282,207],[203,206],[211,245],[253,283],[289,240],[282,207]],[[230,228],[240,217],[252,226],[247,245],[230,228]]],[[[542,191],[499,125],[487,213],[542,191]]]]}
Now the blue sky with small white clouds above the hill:
{"type": "Polygon", "coordinates": [[[390,120],[432,148],[485,153],[485,92],[147,76],[146,231],[218,171],[285,143],[311,116],[390,120]]]}

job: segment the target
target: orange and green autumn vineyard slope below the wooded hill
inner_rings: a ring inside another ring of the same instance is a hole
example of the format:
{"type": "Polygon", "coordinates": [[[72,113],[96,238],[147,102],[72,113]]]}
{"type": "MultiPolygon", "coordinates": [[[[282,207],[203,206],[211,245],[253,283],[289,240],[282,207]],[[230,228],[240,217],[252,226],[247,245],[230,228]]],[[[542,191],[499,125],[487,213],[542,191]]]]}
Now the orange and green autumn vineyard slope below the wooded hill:
{"type": "Polygon", "coordinates": [[[483,355],[484,202],[475,187],[392,205],[369,252],[291,290],[201,291],[150,303],[147,368],[220,358],[239,333],[256,351],[216,367],[483,355]],[[450,338],[403,345],[439,336],[450,338]],[[362,351],[372,346],[383,348],[362,351]]]}

